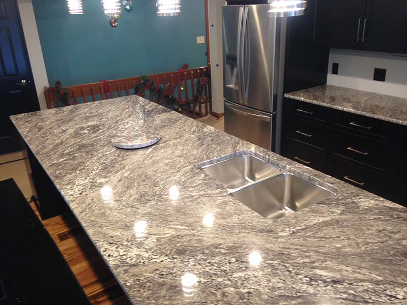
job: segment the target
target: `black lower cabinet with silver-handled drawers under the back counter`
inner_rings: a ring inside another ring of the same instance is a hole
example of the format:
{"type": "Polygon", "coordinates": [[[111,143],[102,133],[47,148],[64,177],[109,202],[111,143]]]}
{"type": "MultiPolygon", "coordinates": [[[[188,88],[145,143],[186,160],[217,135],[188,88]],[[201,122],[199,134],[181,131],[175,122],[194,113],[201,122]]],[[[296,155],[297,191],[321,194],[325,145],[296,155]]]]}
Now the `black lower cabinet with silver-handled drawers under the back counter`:
{"type": "Polygon", "coordinates": [[[282,154],[407,206],[407,127],[284,99],[282,154]]]}

